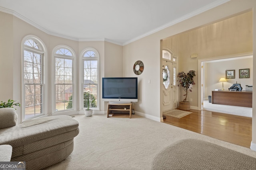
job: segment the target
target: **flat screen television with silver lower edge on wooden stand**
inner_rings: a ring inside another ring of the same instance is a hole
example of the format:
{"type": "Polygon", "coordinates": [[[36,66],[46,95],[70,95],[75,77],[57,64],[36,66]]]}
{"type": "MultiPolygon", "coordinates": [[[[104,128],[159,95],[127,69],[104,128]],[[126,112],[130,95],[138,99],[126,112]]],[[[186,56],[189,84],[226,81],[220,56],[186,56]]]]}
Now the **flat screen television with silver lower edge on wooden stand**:
{"type": "Polygon", "coordinates": [[[102,78],[102,100],[111,103],[138,102],[138,78],[102,78]]]}

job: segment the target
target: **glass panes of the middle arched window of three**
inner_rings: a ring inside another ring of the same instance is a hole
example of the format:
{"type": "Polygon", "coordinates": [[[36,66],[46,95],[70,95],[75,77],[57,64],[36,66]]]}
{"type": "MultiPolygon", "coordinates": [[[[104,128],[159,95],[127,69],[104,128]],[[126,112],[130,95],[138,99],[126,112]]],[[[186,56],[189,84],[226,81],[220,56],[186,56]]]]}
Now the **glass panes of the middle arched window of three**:
{"type": "Polygon", "coordinates": [[[74,55],[66,47],[59,47],[55,54],[55,110],[73,109],[74,55]]]}

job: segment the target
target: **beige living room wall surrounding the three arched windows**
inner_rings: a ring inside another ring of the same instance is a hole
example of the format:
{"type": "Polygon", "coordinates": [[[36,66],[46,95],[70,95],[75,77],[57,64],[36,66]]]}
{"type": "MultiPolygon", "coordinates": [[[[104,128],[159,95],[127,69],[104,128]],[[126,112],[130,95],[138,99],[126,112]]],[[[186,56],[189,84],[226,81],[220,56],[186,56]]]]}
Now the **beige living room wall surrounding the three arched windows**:
{"type": "MultiPolygon", "coordinates": [[[[52,92],[54,86],[53,82],[53,49],[58,45],[65,45],[70,47],[75,54],[75,74],[76,74],[76,94],[81,92],[81,60],[80,55],[82,51],[88,47],[94,48],[100,55],[100,82],[104,76],[122,76],[123,61],[122,61],[122,46],[109,43],[106,41],[74,41],[64,39],[47,33],[35,28],[34,26],[12,16],[0,12],[0,20],[4,24],[0,25],[0,73],[2,80],[0,81],[0,101],[7,101],[8,99],[17,100],[22,103],[22,89],[21,89],[21,43],[24,37],[33,35],[40,39],[46,48],[45,55],[45,78],[46,78],[46,115],[52,115],[54,110],[54,101],[52,101],[52,92]]],[[[101,86],[99,87],[101,90],[101,86]]],[[[79,100],[79,95],[76,96],[76,101],[79,100]]],[[[69,114],[82,113],[82,103],[76,102],[74,111],[69,114]]],[[[100,110],[95,113],[103,114],[106,110],[106,105],[100,99],[100,110]]],[[[22,108],[17,108],[18,122],[22,121],[22,108]]],[[[65,112],[67,113],[67,112],[65,112]]]]}

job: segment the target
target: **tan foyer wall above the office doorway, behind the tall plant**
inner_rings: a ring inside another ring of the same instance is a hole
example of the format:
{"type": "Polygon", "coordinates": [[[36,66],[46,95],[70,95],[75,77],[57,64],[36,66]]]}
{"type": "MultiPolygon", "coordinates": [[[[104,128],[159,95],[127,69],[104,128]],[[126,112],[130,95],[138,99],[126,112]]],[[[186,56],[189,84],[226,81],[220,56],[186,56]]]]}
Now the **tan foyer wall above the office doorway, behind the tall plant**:
{"type": "MultiPolygon", "coordinates": [[[[200,74],[198,59],[252,52],[252,11],[173,35],[163,39],[162,44],[163,47],[173,48],[178,55],[179,72],[195,70],[196,74],[200,74]],[[190,58],[193,54],[197,54],[198,57],[190,58]]],[[[217,72],[223,69],[221,66],[218,68],[217,72]]],[[[198,76],[194,80],[198,82],[198,76]]],[[[198,107],[196,86],[193,86],[192,93],[189,94],[189,98],[193,100],[191,106],[194,108],[198,107]]],[[[205,86],[208,87],[207,84],[205,86]]],[[[180,98],[183,98],[182,91],[180,98]]]]}

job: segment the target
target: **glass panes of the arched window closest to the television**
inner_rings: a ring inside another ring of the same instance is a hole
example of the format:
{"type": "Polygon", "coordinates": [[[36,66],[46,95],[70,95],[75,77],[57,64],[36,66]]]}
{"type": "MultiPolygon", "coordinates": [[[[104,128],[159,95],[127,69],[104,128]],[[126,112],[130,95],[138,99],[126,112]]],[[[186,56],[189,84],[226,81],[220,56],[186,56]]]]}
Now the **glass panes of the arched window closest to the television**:
{"type": "Polygon", "coordinates": [[[98,52],[94,49],[86,49],[82,55],[83,59],[83,108],[86,106],[86,100],[95,102],[91,104],[91,108],[98,108],[98,94],[99,94],[99,84],[98,84],[98,52]]]}

